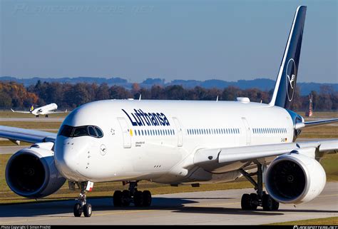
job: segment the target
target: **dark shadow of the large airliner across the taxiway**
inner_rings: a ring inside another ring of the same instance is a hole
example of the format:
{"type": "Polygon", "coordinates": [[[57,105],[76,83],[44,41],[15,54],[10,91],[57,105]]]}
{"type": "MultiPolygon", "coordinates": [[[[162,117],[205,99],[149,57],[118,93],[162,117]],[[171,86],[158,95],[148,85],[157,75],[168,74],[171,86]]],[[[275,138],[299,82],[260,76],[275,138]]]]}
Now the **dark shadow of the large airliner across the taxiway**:
{"type": "MultiPolygon", "coordinates": [[[[198,198],[194,198],[198,199],[198,198]]],[[[225,198],[222,198],[225,199],[225,198]]],[[[45,203],[24,203],[14,205],[0,205],[0,218],[30,217],[30,216],[56,216],[57,214],[71,213],[73,217],[74,200],[51,201],[45,203]]],[[[153,198],[153,205],[149,208],[135,208],[133,204],[129,207],[114,208],[112,198],[88,199],[93,206],[93,216],[96,211],[128,211],[128,210],[173,210],[175,213],[204,213],[204,214],[226,214],[226,215],[284,215],[286,212],[307,213],[338,213],[338,210],[302,210],[281,209],[278,212],[266,212],[263,210],[246,211],[238,208],[200,207],[185,206],[185,204],[198,203],[190,198],[153,198]]],[[[226,204],[226,203],[225,203],[226,204]]],[[[59,217],[59,216],[58,216],[59,217]]]]}

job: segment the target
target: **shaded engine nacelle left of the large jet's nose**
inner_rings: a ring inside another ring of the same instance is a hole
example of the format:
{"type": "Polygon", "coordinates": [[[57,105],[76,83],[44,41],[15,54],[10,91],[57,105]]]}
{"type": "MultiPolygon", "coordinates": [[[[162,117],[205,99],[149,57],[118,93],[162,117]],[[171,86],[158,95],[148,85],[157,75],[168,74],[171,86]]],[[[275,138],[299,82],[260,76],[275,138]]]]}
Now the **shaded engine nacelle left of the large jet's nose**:
{"type": "Polygon", "coordinates": [[[11,156],[6,166],[6,182],[14,193],[42,198],[65,183],[66,179],[56,169],[51,146],[53,143],[38,143],[11,156]]]}

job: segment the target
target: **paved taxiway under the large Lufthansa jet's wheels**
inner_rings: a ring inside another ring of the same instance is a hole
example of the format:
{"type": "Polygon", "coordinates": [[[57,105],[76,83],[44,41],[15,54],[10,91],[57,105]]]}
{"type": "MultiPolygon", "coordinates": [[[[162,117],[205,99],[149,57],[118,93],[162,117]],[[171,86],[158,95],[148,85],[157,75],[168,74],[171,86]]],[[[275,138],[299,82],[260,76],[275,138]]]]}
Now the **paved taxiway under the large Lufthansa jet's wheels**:
{"type": "MultiPolygon", "coordinates": [[[[95,188],[95,185],[94,185],[95,188]]],[[[240,210],[243,193],[253,189],[154,195],[149,208],[114,208],[112,198],[88,199],[93,205],[91,218],[73,217],[74,201],[0,205],[0,225],[111,225],[170,224],[259,225],[292,220],[338,216],[338,183],[327,183],[319,197],[302,205],[280,205],[266,212],[240,210]]],[[[75,196],[75,193],[74,193],[75,196]]]]}

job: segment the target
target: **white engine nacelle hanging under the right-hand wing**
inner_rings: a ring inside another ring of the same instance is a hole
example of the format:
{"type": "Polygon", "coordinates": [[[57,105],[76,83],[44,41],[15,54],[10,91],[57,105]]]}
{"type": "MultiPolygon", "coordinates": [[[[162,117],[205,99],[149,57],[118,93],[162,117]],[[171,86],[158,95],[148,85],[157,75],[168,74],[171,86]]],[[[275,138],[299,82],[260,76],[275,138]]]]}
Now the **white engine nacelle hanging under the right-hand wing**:
{"type": "Polygon", "coordinates": [[[320,163],[299,149],[272,161],[265,173],[265,188],[280,203],[299,204],[322,193],[326,180],[320,163]]]}

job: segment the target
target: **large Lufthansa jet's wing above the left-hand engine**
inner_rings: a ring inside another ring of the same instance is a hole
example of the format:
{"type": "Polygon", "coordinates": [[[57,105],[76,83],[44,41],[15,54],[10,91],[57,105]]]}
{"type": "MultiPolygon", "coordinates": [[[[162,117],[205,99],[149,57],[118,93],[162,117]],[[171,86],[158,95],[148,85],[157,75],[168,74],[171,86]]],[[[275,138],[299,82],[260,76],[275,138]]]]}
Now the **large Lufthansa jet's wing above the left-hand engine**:
{"type": "Polygon", "coordinates": [[[56,133],[0,126],[0,138],[7,138],[11,141],[25,141],[28,143],[54,142],[56,140],[56,133]]]}

